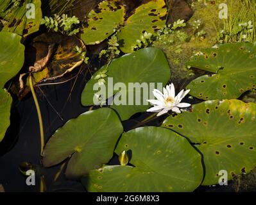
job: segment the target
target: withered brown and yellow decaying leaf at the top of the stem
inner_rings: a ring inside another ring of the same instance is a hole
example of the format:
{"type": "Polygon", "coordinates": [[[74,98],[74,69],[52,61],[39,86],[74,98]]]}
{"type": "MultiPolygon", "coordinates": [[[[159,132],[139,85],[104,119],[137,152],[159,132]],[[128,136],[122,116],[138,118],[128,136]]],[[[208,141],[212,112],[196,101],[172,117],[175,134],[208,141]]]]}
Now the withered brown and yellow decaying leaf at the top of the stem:
{"type": "MultiPolygon", "coordinates": [[[[53,48],[53,53],[49,56],[46,66],[39,67],[41,70],[33,73],[35,83],[45,83],[57,78],[62,78],[65,74],[73,71],[83,63],[81,54],[75,47],[81,48],[81,53],[86,53],[86,47],[81,40],[76,37],[68,37],[60,33],[44,33],[36,38],[26,49],[26,63],[34,65],[35,62],[40,62],[45,59],[49,53],[49,47],[53,48]],[[30,58],[35,55],[34,58],[30,58]]],[[[24,89],[21,90],[20,82],[15,82],[11,90],[17,94],[20,99],[30,92],[28,79],[23,78],[24,89]]]]}

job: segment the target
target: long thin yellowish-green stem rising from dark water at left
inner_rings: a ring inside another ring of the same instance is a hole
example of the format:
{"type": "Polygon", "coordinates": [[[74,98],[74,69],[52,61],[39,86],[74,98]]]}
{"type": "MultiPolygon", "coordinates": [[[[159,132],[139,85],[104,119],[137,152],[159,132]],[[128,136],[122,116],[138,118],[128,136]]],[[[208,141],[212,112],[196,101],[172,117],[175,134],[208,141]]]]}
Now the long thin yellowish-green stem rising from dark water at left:
{"type": "Polygon", "coordinates": [[[32,95],[33,95],[35,106],[37,108],[37,115],[38,115],[38,121],[39,121],[39,126],[40,126],[40,138],[41,138],[41,152],[40,153],[42,155],[42,151],[44,149],[44,126],[43,126],[43,122],[42,122],[42,115],[41,115],[40,106],[39,106],[39,103],[38,103],[38,100],[37,100],[37,95],[35,94],[31,74],[28,77],[28,79],[30,81],[30,89],[31,89],[31,92],[32,92],[32,95]]]}

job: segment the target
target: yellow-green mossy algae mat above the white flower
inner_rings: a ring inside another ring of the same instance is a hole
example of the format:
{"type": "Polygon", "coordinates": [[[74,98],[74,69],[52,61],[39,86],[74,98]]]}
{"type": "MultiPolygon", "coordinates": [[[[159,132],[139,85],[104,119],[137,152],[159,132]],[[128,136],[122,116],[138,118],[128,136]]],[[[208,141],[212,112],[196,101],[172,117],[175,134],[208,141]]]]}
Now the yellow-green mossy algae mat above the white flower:
{"type": "MultiPolygon", "coordinates": [[[[161,35],[153,46],[159,47],[166,53],[169,65],[172,69],[171,81],[179,85],[186,85],[194,78],[193,70],[187,69],[187,61],[192,54],[197,53],[200,49],[206,49],[216,44],[217,32],[223,28],[222,20],[218,19],[218,4],[204,4],[194,2],[194,14],[191,19],[187,20],[186,26],[178,28],[175,32],[166,32],[161,35]],[[195,21],[200,25],[196,29],[193,25],[195,21]],[[197,33],[205,31],[205,34],[197,33]]],[[[171,27],[171,25],[169,25],[171,27]]]]}

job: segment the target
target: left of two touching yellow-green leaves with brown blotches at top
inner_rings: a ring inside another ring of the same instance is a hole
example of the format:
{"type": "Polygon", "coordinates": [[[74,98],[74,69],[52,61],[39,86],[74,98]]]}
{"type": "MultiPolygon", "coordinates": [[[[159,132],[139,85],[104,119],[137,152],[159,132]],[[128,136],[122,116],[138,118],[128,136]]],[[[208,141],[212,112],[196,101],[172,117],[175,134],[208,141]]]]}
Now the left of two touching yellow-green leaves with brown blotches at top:
{"type": "Polygon", "coordinates": [[[99,44],[115,33],[115,29],[123,24],[123,21],[124,6],[120,1],[102,1],[90,11],[81,39],[87,45],[99,44]]]}

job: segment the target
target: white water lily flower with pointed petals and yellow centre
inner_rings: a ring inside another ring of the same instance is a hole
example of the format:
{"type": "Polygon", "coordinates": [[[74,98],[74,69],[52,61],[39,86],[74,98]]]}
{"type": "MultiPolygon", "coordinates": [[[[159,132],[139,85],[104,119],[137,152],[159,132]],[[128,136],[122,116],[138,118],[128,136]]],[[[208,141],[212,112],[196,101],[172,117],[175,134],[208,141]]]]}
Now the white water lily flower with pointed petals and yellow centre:
{"type": "Polygon", "coordinates": [[[175,96],[175,86],[173,83],[167,85],[163,90],[163,93],[157,89],[153,90],[153,94],[157,99],[148,100],[148,102],[153,105],[153,108],[149,108],[147,111],[157,112],[157,116],[160,116],[167,113],[169,110],[174,111],[175,113],[180,113],[181,111],[179,108],[187,108],[191,106],[189,103],[181,102],[183,97],[185,97],[190,90],[182,90],[175,96]]]}

